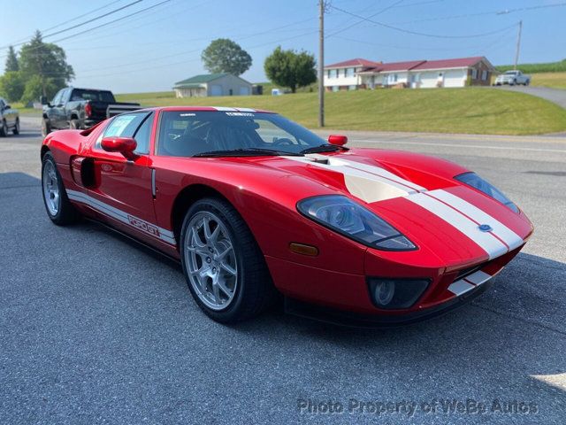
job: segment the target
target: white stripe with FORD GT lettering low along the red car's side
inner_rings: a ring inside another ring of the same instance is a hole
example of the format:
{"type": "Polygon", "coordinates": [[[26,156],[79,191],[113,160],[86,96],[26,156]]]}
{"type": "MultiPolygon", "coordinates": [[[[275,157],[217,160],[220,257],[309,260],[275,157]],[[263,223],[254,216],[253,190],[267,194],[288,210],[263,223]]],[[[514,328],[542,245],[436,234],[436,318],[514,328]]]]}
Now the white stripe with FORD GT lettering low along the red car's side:
{"type": "Polygon", "coordinates": [[[143,233],[149,236],[157,237],[157,239],[161,239],[166,243],[171,243],[172,245],[176,244],[175,236],[173,235],[171,230],[160,228],[153,223],[149,223],[149,221],[134,217],[131,214],[119,210],[112,205],[103,203],[95,197],[89,197],[87,194],[79,192],[77,190],[67,189],[67,196],[69,197],[69,199],[75,202],[80,202],[81,204],[88,205],[99,211],[100,213],[106,214],[113,219],[119,220],[129,226],[132,226],[133,228],[141,230],[143,233]]]}

